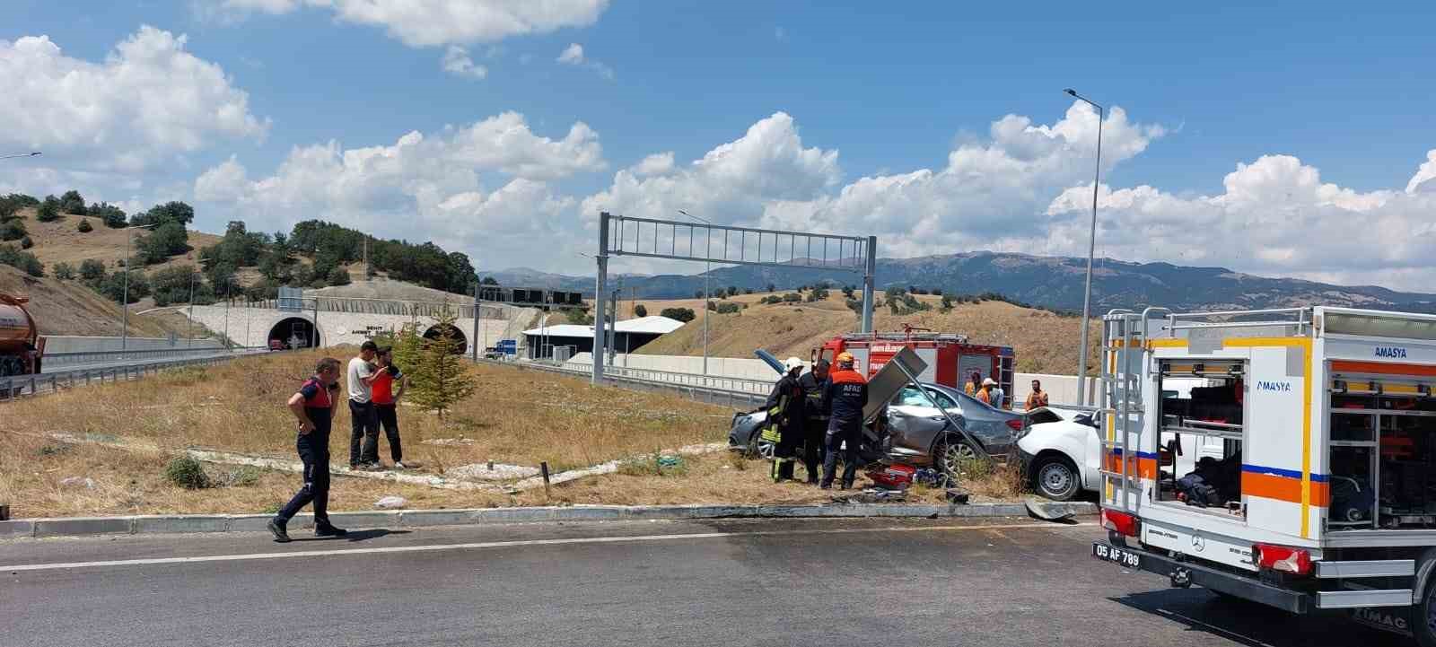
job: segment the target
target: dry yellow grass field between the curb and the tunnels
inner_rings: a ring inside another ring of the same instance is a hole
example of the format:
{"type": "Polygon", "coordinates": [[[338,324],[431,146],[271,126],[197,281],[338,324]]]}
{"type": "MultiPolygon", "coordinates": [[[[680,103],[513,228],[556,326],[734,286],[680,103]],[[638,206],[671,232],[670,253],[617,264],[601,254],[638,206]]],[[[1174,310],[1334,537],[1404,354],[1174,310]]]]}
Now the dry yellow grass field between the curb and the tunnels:
{"type": "MultiPolygon", "coordinates": [[[[340,354],[346,349],[330,349],[340,354]]],[[[349,349],[352,350],[352,349],[349,349]]],[[[299,476],[290,472],[207,465],[220,486],[182,489],[162,478],[167,462],[187,448],[294,459],[294,423],[283,402],[309,374],[320,351],[247,357],[217,367],[191,367],[138,382],[79,387],[53,396],[0,403],[0,502],[17,518],[111,514],[267,512],[287,501],[299,476]],[[66,433],[129,449],[65,443],[66,433]],[[65,485],[69,478],[90,485],[65,485]]],[[[514,367],[477,366],[480,390],[448,420],[401,407],[409,473],[442,475],[460,465],[538,465],[553,471],[640,456],[685,445],[724,442],[731,410],[652,393],[590,387],[582,379],[514,367]],[[471,439],[467,445],[422,440],[471,439]]],[[[349,413],[342,406],[330,436],[335,463],[349,452],[349,413]]],[[[381,442],[388,461],[388,446],[381,442]]],[[[801,468],[798,469],[801,475],[801,468]]],[[[860,485],[864,482],[860,479],[860,485]]],[[[1011,498],[1001,478],[966,486],[976,501],[1011,498]]],[[[386,495],[409,508],[482,508],[574,504],[804,504],[831,492],[773,485],[767,463],[725,452],[685,456],[681,469],[658,471],[635,461],[617,473],[516,495],[435,489],[359,478],[336,478],[332,509],[372,509],[386,495]]],[[[912,501],[939,502],[941,491],[915,489],[912,501]]]]}

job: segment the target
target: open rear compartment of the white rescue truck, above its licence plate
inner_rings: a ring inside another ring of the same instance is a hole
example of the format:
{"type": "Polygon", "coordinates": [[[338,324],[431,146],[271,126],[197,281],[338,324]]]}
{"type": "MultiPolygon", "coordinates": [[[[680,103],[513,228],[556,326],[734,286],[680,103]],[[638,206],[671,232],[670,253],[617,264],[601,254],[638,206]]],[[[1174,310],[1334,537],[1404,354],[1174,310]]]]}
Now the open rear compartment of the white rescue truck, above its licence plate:
{"type": "Polygon", "coordinates": [[[1162,360],[1160,367],[1157,501],[1244,515],[1245,362],[1162,360]]]}

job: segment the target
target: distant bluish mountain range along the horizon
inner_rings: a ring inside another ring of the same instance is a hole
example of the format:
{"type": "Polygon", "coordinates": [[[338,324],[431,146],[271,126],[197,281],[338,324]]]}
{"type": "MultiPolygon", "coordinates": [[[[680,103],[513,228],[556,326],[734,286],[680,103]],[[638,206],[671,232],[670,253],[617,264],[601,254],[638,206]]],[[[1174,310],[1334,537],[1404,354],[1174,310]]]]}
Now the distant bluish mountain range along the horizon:
{"type": "MultiPolygon", "coordinates": [[[[920,258],[879,258],[876,285],[941,288],[955,294],[999,293],[1008,298],[1057,310],[1081,308],[1086,258],[976,251],[920,258]]],[[[546,274],[518,268],[491,275],[513,287],[550,287],[593,294],[593,277],[546,274]]],[[[609,277],[616,283],[617,277],[609,277]]],[[[694,297],[704,275],[625,275],[623,291],[639,298],[694,297]]],[[[780,290],[804,284],[859,285],[862,277],[833,270],[732,265],[712,271],[712,288],[780,290]]],[[[1436,313],[1436,294],[1402,293],[1376,285],[1333,285],[1300,278],[1268,278],[1221,267],[1170,263],[1123,263],[1100,258],[1094,265],[1093,310],[1165,306],[1173,310],[1235,310],[1295,306],[1347,306],[1436,313]]]]}

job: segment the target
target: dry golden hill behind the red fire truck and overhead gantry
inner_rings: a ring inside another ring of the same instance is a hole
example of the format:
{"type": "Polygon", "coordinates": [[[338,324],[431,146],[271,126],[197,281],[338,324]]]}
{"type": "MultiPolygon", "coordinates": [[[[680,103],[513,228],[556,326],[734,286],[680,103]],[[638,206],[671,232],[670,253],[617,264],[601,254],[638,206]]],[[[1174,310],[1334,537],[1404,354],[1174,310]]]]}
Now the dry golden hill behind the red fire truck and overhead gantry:
{"type": "MultiPolygon", "coordinates": [[[[765,349],[780,357],[808,357],[808,350],[821,346],[836,334],[856,331],[857,316],[843,306],[841,294],[833,291],[824,301],[793,306],[760,304],[767,294],[741,294],[728,301],[747,304],[737,314],[708,313],[708,353],[714,357],[752,357],[757,349],[765,349]]],[[[1071,374],[1077,364],[1077,340],[1081,333],[1080,318],[1058,317],[1045,310],[1024,308],[1002,301],[965,303],[951,311],[938,308],[941,297],[916,297],[933,306],[932,310],[895,316],[889,310],[873,313],[873,327],[879,331],[899,331],[903,324],[931,329],[941,333],[966,334],[972,343],[1012,346],[1017,354],[1017,370],[1024,373],[1071,374]]],[[[628,318],[633,301],[620,303],[619,318],[628,318]]],[[[639,354],[702,354],[704,311],[702,301],[684,300],[638,300],[649,314],[658,314],[665,307],[686,307],[698,313],[698,318],[682,329],[665,334],[643,346],[639,354]]],[[[719,301],[721,303],[721,301],[719,301]]],[[[1091,337],[1100,336],[1100,324],[1093,324],[1091,337]]],[[[1093,343],[1096,346],[1096,343],[1093,343]]],[[[1096,353],[1093,354],[1093,360],[1096,353]]]]}

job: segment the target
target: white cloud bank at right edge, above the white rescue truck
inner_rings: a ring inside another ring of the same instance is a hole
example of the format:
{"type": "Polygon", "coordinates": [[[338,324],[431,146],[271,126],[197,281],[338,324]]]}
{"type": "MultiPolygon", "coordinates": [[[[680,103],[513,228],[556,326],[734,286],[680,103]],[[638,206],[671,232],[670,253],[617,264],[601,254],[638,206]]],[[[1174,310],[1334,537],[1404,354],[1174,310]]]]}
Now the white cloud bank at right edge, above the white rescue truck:
{"type": "MultiPolygon", "coordinates": [[[[1358,192],[1323,182],[1290,155],[1238,164],[1218,195],[1178,197],[1142,185],[1099,191],[1104,254],[1178,264],[1429,291],[1436,270],[1436,192],[1420,191],[1436,151],[1406,191],[1358,192]]],[[[1073,186],[1048,207],[1058,237],[1086,235],[1074,214],[1090,214],[1091,185],[1073,186]]]]}

